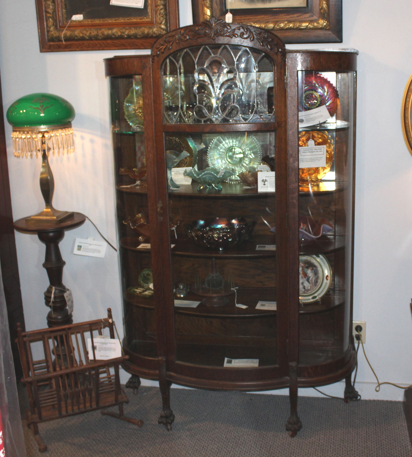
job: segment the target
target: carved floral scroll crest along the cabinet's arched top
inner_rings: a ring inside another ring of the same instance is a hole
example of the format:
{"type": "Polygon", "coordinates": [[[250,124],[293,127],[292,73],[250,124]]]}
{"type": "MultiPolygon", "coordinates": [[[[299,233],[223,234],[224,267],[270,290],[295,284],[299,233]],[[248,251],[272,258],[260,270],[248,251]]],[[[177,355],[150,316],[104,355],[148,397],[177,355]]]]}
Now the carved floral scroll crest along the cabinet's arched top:
{"type": "Polygon", "coordinates": [[[166,49],[171,49],[174,44],[204,37],[209,37],[212,40],[222,37],[242,38],[251,43],[256,41],[261,47],[268,50],[274,50],[275,52],[280,50],[279,43],[265,30],[254,29],[241,24],[231,25],[222,19],[211,17],[209,21],[204,21],[196,26],[184,27],[177,31],[169,32],[154,44],[152,56],[164,53],[166,49]]]}

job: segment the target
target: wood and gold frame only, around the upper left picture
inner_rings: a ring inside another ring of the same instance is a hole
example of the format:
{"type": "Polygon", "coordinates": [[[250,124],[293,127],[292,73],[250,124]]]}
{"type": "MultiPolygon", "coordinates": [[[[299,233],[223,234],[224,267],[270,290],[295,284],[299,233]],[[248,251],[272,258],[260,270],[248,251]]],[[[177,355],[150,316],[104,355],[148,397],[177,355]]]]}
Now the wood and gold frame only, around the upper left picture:
{"type": "Polygon", "coordinates": [[[158,37],[179,27],[179,8],[178,0],[145,4],[143,17],[69,21],[64,0],[36,0],[40,51],[149,49],[158,37]]]}

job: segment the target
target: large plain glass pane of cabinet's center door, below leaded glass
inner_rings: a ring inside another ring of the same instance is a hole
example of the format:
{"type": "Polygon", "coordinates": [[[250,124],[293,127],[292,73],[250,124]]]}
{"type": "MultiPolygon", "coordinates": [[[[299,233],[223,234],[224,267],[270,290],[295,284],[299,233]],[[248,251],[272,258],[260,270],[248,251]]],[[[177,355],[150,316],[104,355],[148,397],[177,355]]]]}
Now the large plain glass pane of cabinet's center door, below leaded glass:
{"type": "Polygon", "coordinates": [[[165,144],[177,360],[277,365],[275,133],[165,144]]]}

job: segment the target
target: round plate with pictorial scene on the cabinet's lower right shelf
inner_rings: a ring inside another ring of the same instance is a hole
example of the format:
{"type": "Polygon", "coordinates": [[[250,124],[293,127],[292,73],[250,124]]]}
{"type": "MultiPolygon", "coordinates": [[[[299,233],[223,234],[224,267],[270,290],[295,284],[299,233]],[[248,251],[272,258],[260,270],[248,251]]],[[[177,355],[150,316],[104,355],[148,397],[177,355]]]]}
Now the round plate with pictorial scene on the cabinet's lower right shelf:
{"type": "Polygon", "coordinates": [[[332,283],[332,268],[322,254],[299,256],[299,299],[301,303],[320,300],[332,283]]]}

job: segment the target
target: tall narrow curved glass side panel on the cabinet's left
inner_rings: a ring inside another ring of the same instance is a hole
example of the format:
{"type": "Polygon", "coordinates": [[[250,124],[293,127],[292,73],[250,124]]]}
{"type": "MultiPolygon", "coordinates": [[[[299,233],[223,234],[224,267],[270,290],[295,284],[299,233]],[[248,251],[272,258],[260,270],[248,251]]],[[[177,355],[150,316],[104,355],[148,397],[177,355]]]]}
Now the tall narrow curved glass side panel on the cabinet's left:
{"type": "Polygon", "coordinates": [[[140,356],[156,357],[142,77],[111,77],[110,87],[123,344],[140,356]]]}

